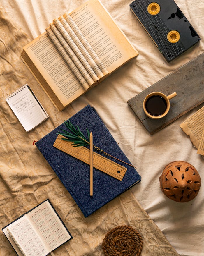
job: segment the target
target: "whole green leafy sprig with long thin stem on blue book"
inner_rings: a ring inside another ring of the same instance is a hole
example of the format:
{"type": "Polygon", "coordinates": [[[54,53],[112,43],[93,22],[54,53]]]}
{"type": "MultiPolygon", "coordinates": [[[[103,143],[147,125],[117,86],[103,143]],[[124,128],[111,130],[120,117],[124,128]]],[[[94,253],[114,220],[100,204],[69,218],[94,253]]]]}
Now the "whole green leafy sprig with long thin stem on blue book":
{"type": "MultiPolygon", "coordinates": [[[[66,141],[71,141],[73,142],[73,147],[80,147],[80,146],[88,146],[90,143],[89,143],[89,139],[90,139],[90,132],[89,130],[86,128],[87,130],[87,135],[88,135],[88,140],[85,138],[85,136],[83,135],[83,133],[81,132],[80,128],[78,126],[77,129],[73,126],[73,124],[70,122],[70,120],[68,119],[68,122],[67,121],[64,121],[64,125],[66,126],[66,128],[68,128],[72,133],[66,131],[66,130],[63,130],[61,129],[63,132],[58,132],[57,134],[60,134],[64,137],[67,137],[67,138],[61,138],[61,140],[66,140],[66,141]]],[[[93,148],[97,151],[99,151],[100,153],[103,153],[105,156],[110,156],[114,159],[117,159],[121,162],[123,162],[124,164],[128,164],[116,157],[113,157],[112,155],[106,153],[104,150],[102,150],[100,147],[97,147],[96,145],[93,144],[93,148]]],[[[133,166],[132,164],[128,164],[134,168],[136,168],[135,166],[133,166]]]]}

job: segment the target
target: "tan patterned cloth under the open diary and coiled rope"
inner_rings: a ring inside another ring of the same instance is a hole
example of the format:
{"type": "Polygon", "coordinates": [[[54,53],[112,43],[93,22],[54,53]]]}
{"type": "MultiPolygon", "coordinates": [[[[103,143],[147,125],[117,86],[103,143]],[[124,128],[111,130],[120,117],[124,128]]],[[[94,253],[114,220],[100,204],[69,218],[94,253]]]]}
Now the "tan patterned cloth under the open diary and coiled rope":
{"type": "MultiPolygon", "coordinates": [[[[3,14],[2,8],[0,8],[0,18],[0,34],[3,35],[1,37],[3,46],[0,51],[1,85],[2,92],[8,93],[12,88],[10,85],[25,83],[25,78],[31,80],[33,78],[19,58],[22,46],[27,43],[27,36],[13,26],[8,16],[3,14]]],[[[32,85],[34,84],[39,87],[36,81],[33,81],[32,85]]],[[[37,93],[39,94],[38,91],[37,93]]],[[[102,242],[106,233],[113,227],[124,224],[135,227],[141,233],[143,237],[141,255],[178,255],[156,224],[141,208],[131,190],[85,218],[54,171],[45,163],[41,153],[32,145],[32,138],[38,137],[39,134],[35,131],[30,133],[24,131],[5,103],[5,95],[2,96],[1,228],[49,198],[73,236],[71,241],[54,252],[56,256],[103,255],[102,242]]],[[[47,101],[50,104],[49,99],[42,100],[44,104],[47,101]]],[[[48,107],[47,104],[46,106],[48,107]]],[[[61,115],[60,112],[55,114],[61,115]]],[[[52,118],[55,114],[50,113],[50,119],[36,128],[38,133],[49,133],[53,129],[52,118]]],[[[0,255],[15,255],[3,232],[0,233],[0,255]]]]}

